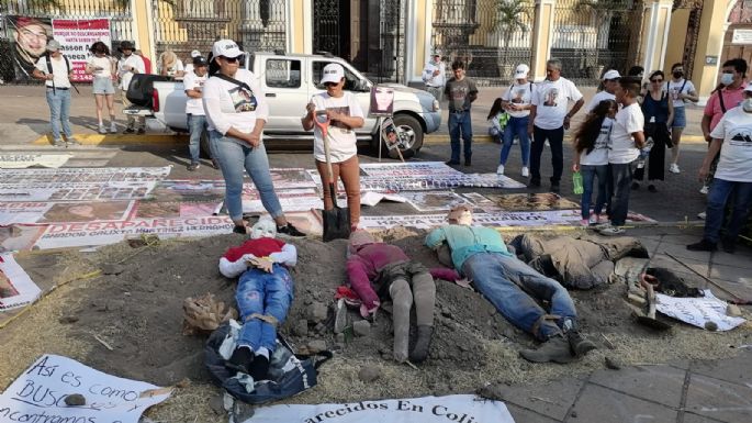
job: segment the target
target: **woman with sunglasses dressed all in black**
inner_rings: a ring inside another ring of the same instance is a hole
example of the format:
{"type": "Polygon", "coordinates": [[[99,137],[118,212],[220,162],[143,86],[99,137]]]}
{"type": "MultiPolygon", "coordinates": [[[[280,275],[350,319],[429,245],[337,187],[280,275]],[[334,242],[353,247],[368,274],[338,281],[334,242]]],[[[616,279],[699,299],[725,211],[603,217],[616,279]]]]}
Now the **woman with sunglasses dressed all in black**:
{"type": "MultiPolygon", "coordinates": [[[[648,191],[656,192],[653,180],[664,180],[665,177],[665,149],[671,145],[669,129],[674,121],[674,105],[669,99],[669,93],[663,90],[665,76],[661,70],[650,74],[650,90],[642,100],[642,114],[644,115],[644,136],[653,140],[653,147],[648,156],[648,191]]],[[[644,177],[644,167],[635,171],[632,189],[640,188],[638,180],[644,177]]]]}

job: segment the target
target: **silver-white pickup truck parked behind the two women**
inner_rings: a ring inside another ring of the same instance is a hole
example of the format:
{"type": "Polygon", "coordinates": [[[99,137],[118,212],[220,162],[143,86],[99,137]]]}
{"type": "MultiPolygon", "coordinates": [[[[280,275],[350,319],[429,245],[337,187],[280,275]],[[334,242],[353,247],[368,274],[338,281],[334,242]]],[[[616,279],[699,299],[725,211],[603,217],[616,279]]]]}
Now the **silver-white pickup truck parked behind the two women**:
{"type": "MultiPolygon", "coordinates": [[[[261,91],[269,104],[269,121],[265,125],[266,141],[306,141],[313,144],[313,131],[303,131],[301,118],[311,97],[324,91],[319,84],[322,69],[329,63],[345,68],[345,90],[356,93],[364,113],[370,110],[372,81],[346,60],[330,55],[283,55],[257,52],[246,54],[245,67],[259,79],[261,91]]],[[[397,84],[382,84],[394,90],[394,125],[401,140],[401,149],[416,153],[423,146],[425,134],[439,129],[439,102],[427,91],[397,84]]],[[[176,132],[187,132],[187,96],[182,81],[157,75],[136,75],[127,98],[134,105],[124,109],[126,114],[154,118],[176,132]]],[[[363,127],[357,130],[360,142],[378,148],[383,118],[367,115],[363,127]]],[[[207,137],[202,137],[202,149],[207,152],[207,137]]],[[[393,155],[393,151],[389,152],[393,155]]]]}

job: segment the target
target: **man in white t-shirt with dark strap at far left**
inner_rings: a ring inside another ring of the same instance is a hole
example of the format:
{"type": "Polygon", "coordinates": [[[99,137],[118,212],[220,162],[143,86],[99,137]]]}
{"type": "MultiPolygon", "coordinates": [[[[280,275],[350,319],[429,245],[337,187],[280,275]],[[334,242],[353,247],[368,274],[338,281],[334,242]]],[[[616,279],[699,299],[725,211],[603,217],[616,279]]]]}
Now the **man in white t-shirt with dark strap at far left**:
{"type": "Polygon", "coordinates": [[[34,68],[33,76],[44,80],[47,90],[47,104],[49,104],[49,123],[53,126],[53,144],[56,147],[77,145],[74,133],[70,130],[70,76],[72,68],[67,57],[60,53],[60,43],[50,40],[47,43],[47,54],[40,57],[34,68]],[[60,123],[65,142],[60,136],[60,123]]]}

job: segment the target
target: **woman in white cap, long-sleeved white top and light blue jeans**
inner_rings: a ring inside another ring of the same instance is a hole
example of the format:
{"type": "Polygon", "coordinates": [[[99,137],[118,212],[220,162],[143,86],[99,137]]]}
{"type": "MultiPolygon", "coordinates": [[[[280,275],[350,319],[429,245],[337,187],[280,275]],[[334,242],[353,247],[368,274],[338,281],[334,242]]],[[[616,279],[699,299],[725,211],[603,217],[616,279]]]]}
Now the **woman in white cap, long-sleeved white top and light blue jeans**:
{"type": "Polygon", "coordinates": [[[269,109],[256,76],[240,69],[243,52],[232,40],[220,40],[212,48],[218,66],[203,88],[203,104],[209,121],[211,147],[225,179],[225,205],[235,223],[233,232],[245,234],[243,220],[243,170],[248,172],[261,197],[263,208],[277,223],[277,232],[305,236],[288,222],[282,212],[269,172],[269,158],[261,132],[269,109]]]}

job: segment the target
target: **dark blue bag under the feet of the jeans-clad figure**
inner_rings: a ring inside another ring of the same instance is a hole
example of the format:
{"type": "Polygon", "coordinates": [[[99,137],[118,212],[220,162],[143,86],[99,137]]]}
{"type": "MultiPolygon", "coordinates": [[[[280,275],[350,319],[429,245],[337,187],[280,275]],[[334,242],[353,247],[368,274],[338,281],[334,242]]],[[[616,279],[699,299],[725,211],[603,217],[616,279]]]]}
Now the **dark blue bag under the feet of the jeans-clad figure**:
{"type": "Polygon", "coordinates": [[[225,359],[220,354],[222,344],[232,336],[229,322],[212,332],[204,347],[204,364],[215,385],[249,404],[281,400],[315,387],[318,367],[333,357],[329,350],[310,356],[294,354],[290,344],[278,334],[277,349],[269,359],[269,380],[256,381],[254,390],[248,392],[237,379],[236,371],[225,367],[225,359]]]}

